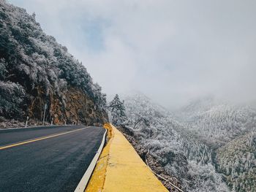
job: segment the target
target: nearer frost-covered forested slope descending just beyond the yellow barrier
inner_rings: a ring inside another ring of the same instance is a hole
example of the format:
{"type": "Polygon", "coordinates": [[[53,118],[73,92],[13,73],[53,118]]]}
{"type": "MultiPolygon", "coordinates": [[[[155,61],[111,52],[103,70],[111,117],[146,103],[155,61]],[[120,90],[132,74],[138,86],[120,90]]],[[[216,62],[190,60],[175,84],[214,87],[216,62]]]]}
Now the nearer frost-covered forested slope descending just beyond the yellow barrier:
{"type": "Polygon", "coordinates": [[[211,164],[211,150],[162,107],[141,94],[127,96],[124,104],[135,139],[186,191],[229,191],[211,164]]]}

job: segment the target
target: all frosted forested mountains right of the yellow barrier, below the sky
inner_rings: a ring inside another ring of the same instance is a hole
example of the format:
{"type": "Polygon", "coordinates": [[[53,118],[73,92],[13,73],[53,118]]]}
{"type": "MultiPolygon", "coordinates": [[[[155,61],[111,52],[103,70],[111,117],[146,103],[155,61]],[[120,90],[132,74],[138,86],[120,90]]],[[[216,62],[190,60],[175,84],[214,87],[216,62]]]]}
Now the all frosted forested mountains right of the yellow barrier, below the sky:
{"type": "Polygon", "coordinates": [[[172,115],[139,92],[124,103],[134,137],[185,191],[255,191],[252,107],[206,97],[172,115]]]}

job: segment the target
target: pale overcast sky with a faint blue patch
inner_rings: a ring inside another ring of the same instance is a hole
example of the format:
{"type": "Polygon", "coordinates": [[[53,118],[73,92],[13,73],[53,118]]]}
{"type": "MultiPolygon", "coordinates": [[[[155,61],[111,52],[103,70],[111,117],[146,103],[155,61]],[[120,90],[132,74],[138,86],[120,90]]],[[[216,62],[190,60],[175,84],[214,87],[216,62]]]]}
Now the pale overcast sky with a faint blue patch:
{"type": "Polygon", "coordinates": [[[165,107],[256,99],[256,1],[10,0],[83,62],[109,96],[165,107]]]}

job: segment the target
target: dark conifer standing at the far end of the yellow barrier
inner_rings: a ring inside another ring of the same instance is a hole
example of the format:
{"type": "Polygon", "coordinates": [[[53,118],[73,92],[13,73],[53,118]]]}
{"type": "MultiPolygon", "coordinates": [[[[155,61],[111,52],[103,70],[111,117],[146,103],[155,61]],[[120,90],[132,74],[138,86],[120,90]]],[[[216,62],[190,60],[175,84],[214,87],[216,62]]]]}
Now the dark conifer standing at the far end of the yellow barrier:
{"type": "Polygon", "coordinates": [[[112,116],[113,125],[124,125],[124,122],[127,120],[127,115],[125,114],[124,101],[120,101],[118,94],[116,94],[108,107],[112,116]]]}

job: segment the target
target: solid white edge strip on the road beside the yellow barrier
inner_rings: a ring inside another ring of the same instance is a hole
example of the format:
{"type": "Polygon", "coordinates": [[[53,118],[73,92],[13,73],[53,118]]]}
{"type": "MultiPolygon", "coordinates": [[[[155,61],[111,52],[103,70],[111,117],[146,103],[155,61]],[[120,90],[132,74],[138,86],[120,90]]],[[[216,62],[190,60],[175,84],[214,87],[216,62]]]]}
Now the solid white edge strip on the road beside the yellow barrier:
{"type": "Polygon", "coordinates": [[[97,150],[96,154],[94,155],[94,158],[91,161],[91,164],[89,165],[86,172],[83,174],[82,179],[78,183],[78,186],[75,188],[75,192],[83,192],[86,189],[87,184],[89,183],[91,174],[94,172],[94,167],[97,164],[97,161],[99,159],[99,155],[102,153],[102,149],[105,144],[105,136],[107,133],[107,129],[105,130],[105,133],[103,134],[102,143],[99,145],[99,149],[97,150]]]}

